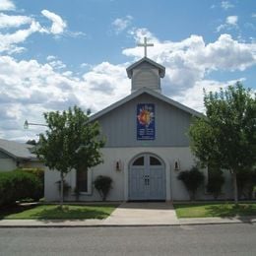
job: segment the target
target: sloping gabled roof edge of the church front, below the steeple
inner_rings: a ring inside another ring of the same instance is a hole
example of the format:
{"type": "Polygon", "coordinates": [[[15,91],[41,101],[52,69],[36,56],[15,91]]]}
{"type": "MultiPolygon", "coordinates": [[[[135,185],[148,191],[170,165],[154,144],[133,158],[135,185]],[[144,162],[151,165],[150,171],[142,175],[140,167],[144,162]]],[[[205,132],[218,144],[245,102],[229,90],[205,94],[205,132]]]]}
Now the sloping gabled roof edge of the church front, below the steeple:
{"type": "Polygon", "coordinates": [[[172,106],[175,106],[175,107],[177,107],[177,108],[179,108],[179,109],[181,109],[181,110],[183,110],[183,111],[185,111],[185,112],[187,112],[187,113],[189,113],[191,115],[198,116],[198,117],[202,117],[203,116],[202,113],[200,113],[200,112],[198,112],[198,111],[196,111],[196,110],[194,110],[194,109],[192,109],[192,108],[190,108],[188,106],[185,106],[185,105],[183,105],[183,104],[181,104],[181,103],[179,103],[179,102],[177,102],[177,101],[175,101],[175,100],[173,100],[173,99],[171,99],[171,98],[169,98],[167,96],[162,96],[160,93],[157,93],[156,91],[153,91],[151,89],[148,89],[148,88],[144,87],[144,88],[142,88],[140,90],[135,91],[131,95],[126,96],[126,97],[122,98],[121,100],[116,101],[115,103],[113,103],[113,104],[107,106],[106,108],[98,111],[96,114],[94,114],[94,115],[92,115],[90,117],[90,121],[96,120],[100,116],[110,112],[111,110],[117,108],[118,106],[120,106],[122,104],[125,104],[126,102],[132,100],[133,98],[135,98],[137,96],[141,96],[143,94],[148,94],[150,96],[154,96],[156,98],[159,98],[160,100],[162,100],[162,101],[164,101],[164,102],[166,102],[166,103],[168,103],[168,104],[170,104],[172,106]]]}

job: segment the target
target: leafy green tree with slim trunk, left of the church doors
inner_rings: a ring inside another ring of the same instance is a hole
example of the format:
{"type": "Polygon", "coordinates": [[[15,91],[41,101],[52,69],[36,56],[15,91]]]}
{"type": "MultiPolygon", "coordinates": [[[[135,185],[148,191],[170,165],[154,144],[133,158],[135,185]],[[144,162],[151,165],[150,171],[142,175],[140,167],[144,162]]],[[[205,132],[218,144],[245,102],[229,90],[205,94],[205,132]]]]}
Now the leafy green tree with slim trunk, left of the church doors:
{"type": "Polygon", "coordinates": [[[39,136],[36,154],[45,165],[60,172],[60,204],[63,204],[64,178],[71,169],[87,171],[102,161],[100,148],[104,139],[97,122],[90,122],[85,114],[74,106],[67,111],[44,113],[48,129],[39,136]]]}

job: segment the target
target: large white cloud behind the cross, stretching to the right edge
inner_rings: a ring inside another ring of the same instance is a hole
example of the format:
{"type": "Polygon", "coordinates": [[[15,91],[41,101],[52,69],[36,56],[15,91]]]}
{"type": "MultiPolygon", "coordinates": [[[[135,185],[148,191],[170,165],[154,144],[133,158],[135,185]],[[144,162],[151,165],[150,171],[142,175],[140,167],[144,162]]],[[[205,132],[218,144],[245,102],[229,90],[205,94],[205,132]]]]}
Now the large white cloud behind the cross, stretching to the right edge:
{"type": "MultiPolygon", "coordinates": [[[[242,71],[256,64],[256,44],[238,42],[229,34],[222,34],[207,44],[199,35],[172,42],[160,41],[147,30],[133,32],[136,40],[144,34],[150,35],[150,41],[155,43],[148,50],[149,57],[165,66],[162,90],[167,96],[179,96],[198,81],[203,81],[213,70],[242,71]]],[[[123,54],[137,60],[143,56],[143,49],[128,48],[123,50],[123,54]]]]}

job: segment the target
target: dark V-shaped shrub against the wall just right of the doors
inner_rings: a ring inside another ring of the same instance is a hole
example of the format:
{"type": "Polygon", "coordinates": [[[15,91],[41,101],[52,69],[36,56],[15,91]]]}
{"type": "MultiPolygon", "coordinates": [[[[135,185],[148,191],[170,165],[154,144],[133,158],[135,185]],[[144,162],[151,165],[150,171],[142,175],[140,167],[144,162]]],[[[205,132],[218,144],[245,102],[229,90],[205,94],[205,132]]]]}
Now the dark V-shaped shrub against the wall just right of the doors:
{"type": "Polygon", "coordinates": [[[181,171],[177,179],[181,180],[188,190],[190,200],[195,200],[196,192],[199,186],[204,182],[204,174],[193,166],[190,170],[181,171]]]}

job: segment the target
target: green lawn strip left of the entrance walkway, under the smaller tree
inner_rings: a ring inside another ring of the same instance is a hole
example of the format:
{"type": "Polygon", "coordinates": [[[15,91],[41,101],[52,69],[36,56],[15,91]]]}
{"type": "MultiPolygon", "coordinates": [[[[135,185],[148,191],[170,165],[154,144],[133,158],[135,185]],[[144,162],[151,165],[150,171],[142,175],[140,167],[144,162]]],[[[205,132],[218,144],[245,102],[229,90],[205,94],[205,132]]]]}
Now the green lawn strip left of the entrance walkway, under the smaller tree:
{"type": "Polygon", "coordinates": [[[56,219],[105,219],[117,205],[58,205],[18,206],[1,211],[0,219],[7,220],[56,220],[56,219]]]}

